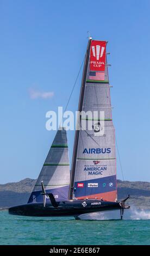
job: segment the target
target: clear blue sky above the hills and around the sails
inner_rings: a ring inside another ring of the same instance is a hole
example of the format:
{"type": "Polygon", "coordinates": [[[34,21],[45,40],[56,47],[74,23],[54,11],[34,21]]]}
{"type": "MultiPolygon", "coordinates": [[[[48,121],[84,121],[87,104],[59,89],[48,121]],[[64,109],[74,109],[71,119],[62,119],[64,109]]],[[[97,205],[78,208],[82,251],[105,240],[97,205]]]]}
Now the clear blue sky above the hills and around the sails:
{"type": "MultiPolygon", "coordinates": [[[[149,8],[148,0],[0,0],[1,184],[39,175],[55,135],[45,129],[45,114],[65,107],[87,31],[109,41],[112,117],[124,178],[150,181],[149,8]],[[30,90],[52,95],[31,99],[30,90]]],[[[81,74],[69,110],[77,110],[80,82],[81,74]]],[[[69,131],[70,160],[73,139],[69,131]]]]}

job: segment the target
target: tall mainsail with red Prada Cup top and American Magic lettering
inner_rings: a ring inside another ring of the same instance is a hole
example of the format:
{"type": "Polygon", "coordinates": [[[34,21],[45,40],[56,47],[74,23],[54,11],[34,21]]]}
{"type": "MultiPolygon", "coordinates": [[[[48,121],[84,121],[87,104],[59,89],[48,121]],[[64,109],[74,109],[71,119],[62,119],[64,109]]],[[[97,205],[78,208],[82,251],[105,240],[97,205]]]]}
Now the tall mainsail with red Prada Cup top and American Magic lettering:
{"type": "MultiPolygon", "coordinates": [[[[70,199],[103,198],[115,202],[116,153],[112,123],[106,41],[89,39],[85,56],[78,111],[104,111],[104,120],[92,118],[92,130],[82,130],[82,118],[74,138],[70,199]],[[104,121],[104,134],[98,135],[104,121]]],[[[92,115],[93,116],[93,115],[92,115]]],[[[89,117],[86,117],[86,123],[89,117]]]]}

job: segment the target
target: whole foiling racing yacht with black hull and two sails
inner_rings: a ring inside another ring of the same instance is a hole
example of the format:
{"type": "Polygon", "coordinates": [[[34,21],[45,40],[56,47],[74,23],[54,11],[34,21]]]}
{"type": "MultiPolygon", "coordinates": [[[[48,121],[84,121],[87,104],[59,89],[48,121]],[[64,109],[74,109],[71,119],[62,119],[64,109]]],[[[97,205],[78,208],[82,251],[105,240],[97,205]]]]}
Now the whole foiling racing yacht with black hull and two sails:
{"type": "Polygon", "coordinates": [[[117,202],[115,129],[112,123],[107,41],[89,38],[84,60],[79,113],[104,112],[104,119],[79,115],[68,158],[66,130],[55,135],[28,203],[9,208],[9,214],[24,216],[74,216],[96,211],[129,209],[117,202]],[[86,123],[82,129],[83,120],[86,123]],[[104,122],[104,127],[102,125],[104,122]],[[91,129],[89,130],[89,124],[91,129]],[[99,131],[102,131],[103,134],[99,131]]]}

